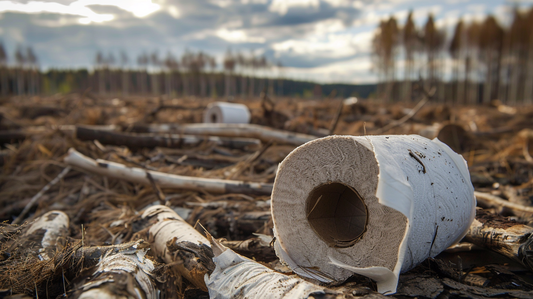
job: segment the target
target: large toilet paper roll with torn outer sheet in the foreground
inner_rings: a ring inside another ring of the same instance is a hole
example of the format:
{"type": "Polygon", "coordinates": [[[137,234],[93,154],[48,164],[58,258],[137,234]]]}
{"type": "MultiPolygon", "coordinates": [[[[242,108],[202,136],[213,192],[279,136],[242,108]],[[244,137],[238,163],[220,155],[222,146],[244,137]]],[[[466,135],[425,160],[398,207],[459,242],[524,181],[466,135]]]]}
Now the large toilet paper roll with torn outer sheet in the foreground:
{"type": "Polygon", "coordinates": [[[301,276],[332,282],[358,273],[392,294],[400,272],[462,239],[475,206],[465,160],[437,139],[325,137],[279,166],[276,254],[301,276]]]}

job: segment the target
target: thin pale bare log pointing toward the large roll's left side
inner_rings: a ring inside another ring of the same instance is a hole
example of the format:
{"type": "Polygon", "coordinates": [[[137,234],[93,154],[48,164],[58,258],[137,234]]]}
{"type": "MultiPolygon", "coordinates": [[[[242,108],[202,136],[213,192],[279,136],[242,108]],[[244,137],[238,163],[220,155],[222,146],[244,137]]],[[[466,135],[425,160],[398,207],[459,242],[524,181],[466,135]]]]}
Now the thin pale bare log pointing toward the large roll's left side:
{"type": "Polygon", "coordinates": [[[65,157],[64,161],[71,166],[78,167],[90,173],[144,185],[152,185],[147,177],[147,173],[149,173],[160,188],[203,190],[214,193],[244,193],[261,195],[269,195],[272,192],[271,184],[205,179],[167,174],[136,167],[127,167],[111,161],[100,159],[93,160],[82,155],[73,148],[69,149],[68,155],[65,157]]]}

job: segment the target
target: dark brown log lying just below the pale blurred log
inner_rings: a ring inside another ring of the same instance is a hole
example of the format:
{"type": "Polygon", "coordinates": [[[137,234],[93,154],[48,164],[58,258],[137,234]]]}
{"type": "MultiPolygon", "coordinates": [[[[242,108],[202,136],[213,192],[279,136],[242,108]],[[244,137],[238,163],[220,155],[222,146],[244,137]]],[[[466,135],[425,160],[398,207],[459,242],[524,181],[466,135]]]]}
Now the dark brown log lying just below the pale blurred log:
{"type": "Polygon", "coordinates": [[[168,147],[179,148],[183,145],[196,145],[202,142],[212,142],[217,145],[242,149],[248,146],[258,146],[257,139],[250,138],[219,138],[196,137],[187,135],[157,136],[154,134],[125,134],[109,130],[88,127],[76,127],[76,138],[79,140],[98,140],[102,144],[127,146],[131,149],[168,147]]]}

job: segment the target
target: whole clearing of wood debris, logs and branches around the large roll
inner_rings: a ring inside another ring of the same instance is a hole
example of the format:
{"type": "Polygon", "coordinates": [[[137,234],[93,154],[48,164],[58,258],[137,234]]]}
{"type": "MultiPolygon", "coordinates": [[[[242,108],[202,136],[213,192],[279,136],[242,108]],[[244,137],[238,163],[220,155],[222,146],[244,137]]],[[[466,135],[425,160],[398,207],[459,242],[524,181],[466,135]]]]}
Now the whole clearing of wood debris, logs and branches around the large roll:
{"type": "MultiPolygon", "coordinates": [[[[270,101],[270,108],[259,99],[242,102],[250,124],[215,127],[199,124],[208,99],[78,93],[3,99],[0,296],[84,296],[102,286],[133,297],[207,298],[205,275],[214,282],[222,272],[214,272],[220,266],[202,226],[242,263],[282,280],[300,279],[274,254],[270,192],[278,164],[332,129],[356,136],[425,132],[468,162],[483,209],[463,241],[475,246],[427,259],[400,275],[397,294],[387,297],[533,296],[532,107],[516,107],[510,116],[495,106],[450,107],[431,98],[418,106],[270,101]],[[54,109],[43,114],[33,106],[54,109]],[[172,109],[159,108],[167,106],[172,109]],[[32,227],[52,218],[68,220],[43,242],[48,228],[32,227]],[[163,227],[187,227],[196,239],[162,234],[163,227]],[[120,269],[111,266],[117,259],[120,269]]],[[[408,152],[406,159],[421,172],[427,167],[408,152]]],[[[358,275],[314,288],[337,298],[383,297],[358,275]]]]}

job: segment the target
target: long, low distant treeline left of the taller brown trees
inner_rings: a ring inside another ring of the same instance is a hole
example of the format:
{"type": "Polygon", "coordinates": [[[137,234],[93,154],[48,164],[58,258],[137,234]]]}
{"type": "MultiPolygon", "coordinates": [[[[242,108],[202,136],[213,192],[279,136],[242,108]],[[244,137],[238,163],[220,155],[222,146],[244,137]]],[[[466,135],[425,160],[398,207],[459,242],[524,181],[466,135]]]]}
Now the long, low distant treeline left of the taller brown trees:
{"type": "Polygon", "coordinates": [[[28,47],[17,48],[14,61],[0,44],[0,95],[37,95],[90,91],[99,95],[168,95],[199,97],[302,96],[320,98],[333,91],[337,96],[369,97],[375,84],[323,84],[284,78],[283,65],[252,53],[227,51],[219,67],[213,56],[185,51],[142,53],[130,60],[127,53],[97,52],[92,71],[50,69],[39,71],[37,57],[28,47]],[[221,70],[222,69],[222,70],[221,70]]]}

